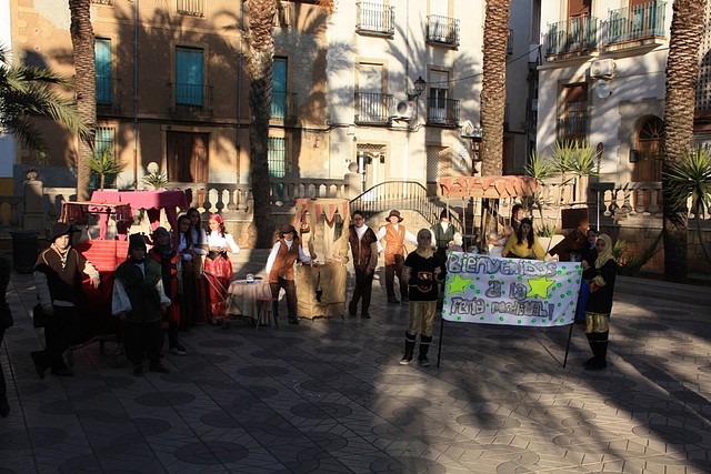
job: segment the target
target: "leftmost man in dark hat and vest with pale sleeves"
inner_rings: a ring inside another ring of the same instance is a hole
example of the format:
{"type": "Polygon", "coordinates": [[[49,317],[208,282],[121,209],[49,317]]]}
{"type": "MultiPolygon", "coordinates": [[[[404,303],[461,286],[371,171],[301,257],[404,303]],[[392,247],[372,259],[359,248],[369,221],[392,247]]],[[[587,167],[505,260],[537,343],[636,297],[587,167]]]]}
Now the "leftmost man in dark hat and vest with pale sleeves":
{"type": "Polygon", "coordinates": [[[58,222],[52,226],[50,245],[34,264],[34,288],[42,312],[47,314],[43,351],[30,353],[40,379],[51,367],[53,375],[73,375],[64,364],[62,354],[79,339],[79,304],[81,303],[82,273],[98,288],[97,269],[71,248],[73,226],[58,222]]]}

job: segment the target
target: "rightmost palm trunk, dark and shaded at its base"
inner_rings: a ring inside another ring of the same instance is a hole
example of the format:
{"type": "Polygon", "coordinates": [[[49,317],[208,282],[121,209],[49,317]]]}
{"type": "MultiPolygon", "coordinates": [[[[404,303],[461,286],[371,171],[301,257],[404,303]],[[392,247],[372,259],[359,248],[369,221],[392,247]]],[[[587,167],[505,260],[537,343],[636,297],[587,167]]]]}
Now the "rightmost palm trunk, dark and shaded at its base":
{"type": "Polygon", "coordinates": [[[662,164],[664,280],[684,281],[689,220],[687,202],[673,199],[669,177],[692,149],[699,43],[705,0],[674,0],[667,59],[667,98],[662,164]]]}

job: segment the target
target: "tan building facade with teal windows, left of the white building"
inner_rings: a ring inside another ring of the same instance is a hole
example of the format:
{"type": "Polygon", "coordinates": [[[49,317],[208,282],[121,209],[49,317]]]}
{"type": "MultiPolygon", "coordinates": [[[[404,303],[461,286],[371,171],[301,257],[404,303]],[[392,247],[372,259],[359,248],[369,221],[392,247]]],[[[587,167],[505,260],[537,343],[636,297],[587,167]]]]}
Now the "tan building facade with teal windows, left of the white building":
{"type": "MultiPolygon", "coordinates": [[[[119,189],[141,189],[154,162],[171,182],[249,182],[248,14],[242,2],[92,0],[97,38],[97,148],[126,164],[119,189]]],[[[270,168],[323,173],[324,16],[278,2],[270,168]]],[[[10,0],[16,59],[73,74],[66,2],[10,0]]],[[[16,177],[38,167],[49,185],[76,182],[76,140],[44,123],[49,157],[24,147],[16,177]]],[[[21,178],[18,178],[21,181],[21,178]]],[[[16,183],[17,184],[17,183],[16,183]]]]}

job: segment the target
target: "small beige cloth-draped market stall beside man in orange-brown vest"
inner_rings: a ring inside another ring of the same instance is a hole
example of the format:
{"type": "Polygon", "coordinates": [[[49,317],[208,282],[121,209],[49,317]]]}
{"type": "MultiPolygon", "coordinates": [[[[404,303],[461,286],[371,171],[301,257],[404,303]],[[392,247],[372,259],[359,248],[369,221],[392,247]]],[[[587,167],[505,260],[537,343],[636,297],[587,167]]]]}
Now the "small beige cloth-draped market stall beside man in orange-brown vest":
{"type": "Polygon", "coordinates": [[[346,199],[299,199],[296,211],[294,228],[300,230],[303,250],[317,254],[316,262],[297,266],[299,317],[343,315],[349,202],[346,199]]]}

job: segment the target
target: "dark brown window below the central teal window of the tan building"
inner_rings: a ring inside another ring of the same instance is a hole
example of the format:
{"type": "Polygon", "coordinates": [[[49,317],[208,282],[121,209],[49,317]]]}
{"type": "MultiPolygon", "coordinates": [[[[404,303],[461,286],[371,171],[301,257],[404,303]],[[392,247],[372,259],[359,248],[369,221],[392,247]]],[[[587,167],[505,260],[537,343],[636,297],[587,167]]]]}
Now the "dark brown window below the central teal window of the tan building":
{"type": "Polygon", "coordinates": [[[173,182],[204,183],[208,181],[208,133],[168,132],[166,153],[168,178],[173,182]]]}

